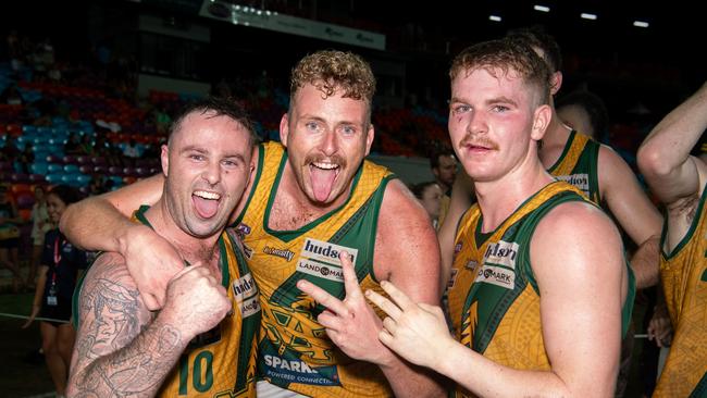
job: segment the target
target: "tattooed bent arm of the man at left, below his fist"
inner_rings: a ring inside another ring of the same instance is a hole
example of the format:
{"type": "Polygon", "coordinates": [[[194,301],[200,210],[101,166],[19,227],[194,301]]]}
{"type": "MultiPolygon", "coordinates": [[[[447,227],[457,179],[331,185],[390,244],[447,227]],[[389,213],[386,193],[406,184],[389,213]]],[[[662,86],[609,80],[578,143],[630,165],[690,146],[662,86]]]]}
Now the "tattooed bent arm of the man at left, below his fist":
{"type": "Polygon", "coordinates": [[[176,327],[152,319],[138,290],[120,282],[126,271],[116,269],[111,264],[101,277],[87,279],[82,293],[85,324],[70,381],[76,396],[153,396],[188,343],[176,327]]]}

